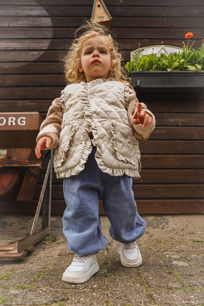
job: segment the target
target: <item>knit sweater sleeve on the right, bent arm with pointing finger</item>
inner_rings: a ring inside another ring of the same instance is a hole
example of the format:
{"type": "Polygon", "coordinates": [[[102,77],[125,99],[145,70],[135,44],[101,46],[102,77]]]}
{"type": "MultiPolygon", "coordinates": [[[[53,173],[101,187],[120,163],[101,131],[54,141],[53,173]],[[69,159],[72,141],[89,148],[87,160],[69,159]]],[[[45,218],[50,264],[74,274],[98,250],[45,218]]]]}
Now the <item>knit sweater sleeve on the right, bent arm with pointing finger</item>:
{"type": "Polygon", "coordinates": [[[142,104],[142,109],[145,110],[145,112],[152,117],[152,122],[149,126],[146,126],[145,128],[143,127],[142,124],[134,124],[132,122],[132,119],[137,114],[138,103],[139,103],[139,101],[136,97],[135,91],[133,89],[129,88],[128,120],[129,120],[130,126],[133,130],[133,133],[134,133],[135,137],[138,138],[139,140],[146,140],[150,136],[151,132],[154,130],[155,117],[150,112],[150,110],[147,109],[147,106],[144,103],[141,103],[142,104]]]}

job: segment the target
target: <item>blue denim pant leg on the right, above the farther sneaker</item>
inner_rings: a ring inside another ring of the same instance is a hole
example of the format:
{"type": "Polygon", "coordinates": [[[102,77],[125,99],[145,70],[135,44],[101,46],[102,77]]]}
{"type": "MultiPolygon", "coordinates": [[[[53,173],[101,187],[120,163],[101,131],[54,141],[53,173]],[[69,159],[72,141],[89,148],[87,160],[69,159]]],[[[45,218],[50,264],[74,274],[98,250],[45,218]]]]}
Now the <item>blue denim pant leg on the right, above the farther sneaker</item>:
{"type": "Polygon", "coordinates": [[[105,174],[103,206],[111,223],[110,236],[132,242],[145,233],[146,222],[139,216],[132,191],[132,177],[105,174]]]}

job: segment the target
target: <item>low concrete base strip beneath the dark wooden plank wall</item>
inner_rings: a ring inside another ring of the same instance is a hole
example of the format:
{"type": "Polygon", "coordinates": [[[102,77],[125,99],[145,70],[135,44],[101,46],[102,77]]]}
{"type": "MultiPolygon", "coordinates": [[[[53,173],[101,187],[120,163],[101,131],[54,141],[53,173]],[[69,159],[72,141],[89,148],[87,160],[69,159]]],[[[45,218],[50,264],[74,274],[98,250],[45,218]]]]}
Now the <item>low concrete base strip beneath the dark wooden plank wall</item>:
{"type": "MultiPolygon", "coordinates": [[[[202,214],[178,215],[141,215],[147,222],[146,230],[204,230],[202,214]]],[[[32,215],[1,215],[0,229],[31,229],[34,216],[32,215]]],[[[100,216],[102,229],[108,230],[110,222],[105,215],[100,216]]],[[[41,229],[42,218],[39,216],[37,229],[41,229]]],[[[50,229],[62,229],[62,215],[52,215],[50,229]]]]}

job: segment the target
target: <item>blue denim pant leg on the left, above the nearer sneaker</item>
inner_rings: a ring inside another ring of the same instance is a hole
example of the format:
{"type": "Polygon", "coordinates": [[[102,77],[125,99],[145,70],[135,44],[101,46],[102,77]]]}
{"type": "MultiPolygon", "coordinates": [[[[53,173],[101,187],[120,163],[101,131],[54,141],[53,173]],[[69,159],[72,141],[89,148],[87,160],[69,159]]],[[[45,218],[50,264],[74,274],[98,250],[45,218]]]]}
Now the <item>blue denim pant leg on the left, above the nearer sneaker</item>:
{"type": "Polygon", "coordinates": [[[78,175],[65,178],[63,182],[67,204],[63,215],[63,233],[69,250],[77,255],[98,253],[108,244],[98,216],[101,172],[95,160],[95,150],[92,150],[85,169],[78,175]]]}

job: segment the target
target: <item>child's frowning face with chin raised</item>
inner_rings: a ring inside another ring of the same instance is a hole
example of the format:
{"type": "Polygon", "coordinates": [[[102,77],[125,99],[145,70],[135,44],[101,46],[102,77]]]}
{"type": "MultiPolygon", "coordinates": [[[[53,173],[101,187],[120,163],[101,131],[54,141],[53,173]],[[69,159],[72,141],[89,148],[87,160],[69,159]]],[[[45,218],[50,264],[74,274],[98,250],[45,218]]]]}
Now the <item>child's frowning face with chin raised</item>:
{"type": "Polygon", "coordinates": [[[103,36],[94,36],[83,42],[79,71],[84,72],[87,82],[107,79],[110,66],[111,57],[103,36]]]}

